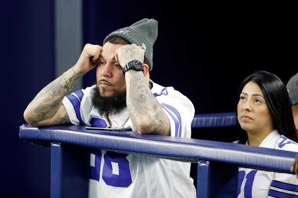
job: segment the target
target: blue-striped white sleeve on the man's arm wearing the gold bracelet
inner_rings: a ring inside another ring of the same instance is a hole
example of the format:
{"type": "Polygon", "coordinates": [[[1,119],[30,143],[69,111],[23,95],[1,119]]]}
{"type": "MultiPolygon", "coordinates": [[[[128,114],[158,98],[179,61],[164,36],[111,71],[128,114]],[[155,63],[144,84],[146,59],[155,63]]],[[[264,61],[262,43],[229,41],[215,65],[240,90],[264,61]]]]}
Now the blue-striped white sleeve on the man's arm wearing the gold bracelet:
{"type": "Polygon", "coordinates": [[[83,90],[79,90],[74,93],[71,93],[70,95],[66,95],[62,101],[67,111],[70,122],[75,125],[85,124],[81,118],[81,112],[80,112],[80,107],[81,107],[81,102],[83,100],[83,97],[84,97],[83,90]]]}

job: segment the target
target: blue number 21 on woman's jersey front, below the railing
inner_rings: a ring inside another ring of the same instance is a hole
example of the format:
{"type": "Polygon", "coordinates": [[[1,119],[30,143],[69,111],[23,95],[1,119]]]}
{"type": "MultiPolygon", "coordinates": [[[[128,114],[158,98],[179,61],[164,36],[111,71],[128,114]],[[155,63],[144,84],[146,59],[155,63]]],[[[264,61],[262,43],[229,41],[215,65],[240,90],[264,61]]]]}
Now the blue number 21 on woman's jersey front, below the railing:
{"type": "MultiPolygon", "coordinates": [[[[251,191],[252,191],[252,184],[254,183],[255,174],[257,173],[257,170],[251,170],[246,175],[246,182],[244,186],[244,197],[245,198],[251,198],[251,191]]],[[[241,192],[241,185],[244,180],[245,176],[245,170],[238,171],[238,194],[240,195],[241,192]]]]}

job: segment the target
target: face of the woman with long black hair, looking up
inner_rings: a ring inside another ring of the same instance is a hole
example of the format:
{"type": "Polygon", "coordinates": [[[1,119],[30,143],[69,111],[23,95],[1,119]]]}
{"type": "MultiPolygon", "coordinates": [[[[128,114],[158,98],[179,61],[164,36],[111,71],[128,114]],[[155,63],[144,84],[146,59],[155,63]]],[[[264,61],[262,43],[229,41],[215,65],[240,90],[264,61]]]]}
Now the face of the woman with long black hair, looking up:
{"type": "Polygon", "coordinates": [[[274,130],[264,94],[258,84],[250,81],[242,89],[237,105],[237,118],[242,129],[251,133],[274,130]]]}

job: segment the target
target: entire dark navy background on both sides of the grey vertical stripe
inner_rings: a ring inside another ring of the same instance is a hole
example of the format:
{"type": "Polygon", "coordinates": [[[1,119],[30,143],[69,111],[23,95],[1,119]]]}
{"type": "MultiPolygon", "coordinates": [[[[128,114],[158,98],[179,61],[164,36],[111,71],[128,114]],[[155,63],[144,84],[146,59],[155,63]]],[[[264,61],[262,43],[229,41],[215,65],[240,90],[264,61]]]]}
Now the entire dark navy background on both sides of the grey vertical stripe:
{"type": "MultiPolygon", "coordinates": [[[[285,82],[297,72],[295,6],[183,3],[83,1],[83,43],[102,45],[116,29],[156,19],[151,79],[190,98],[196,114],[233,111],[239,84],[255,70],[285,82]]],[[[23,143],[18,127],[29,102],[55,78],[54,16],[50,0],[0,6],[2,197],[49,197],[50,150],[23,143]]],[[[94,80],[95,70],[83,84],[94,80]]]]}

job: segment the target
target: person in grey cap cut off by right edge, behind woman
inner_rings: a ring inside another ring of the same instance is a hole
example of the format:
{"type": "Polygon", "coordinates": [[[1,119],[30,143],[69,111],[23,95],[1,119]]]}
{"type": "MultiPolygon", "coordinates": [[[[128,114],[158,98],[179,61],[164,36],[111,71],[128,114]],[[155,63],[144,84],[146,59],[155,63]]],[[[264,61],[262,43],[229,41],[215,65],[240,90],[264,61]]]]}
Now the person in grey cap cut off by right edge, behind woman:
{"type": "MultiPolygon", "coordinates": [[[[298,132],[298,73],[293,75],[288,81],[287,90],[292,104],[292,112],[296,131],[298,132]]],[[[291,167],[291,172],[295,172],[296,177],[298,178],[298,154],[296,155],[296,158],[291,167]]]]}

